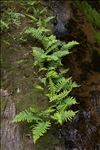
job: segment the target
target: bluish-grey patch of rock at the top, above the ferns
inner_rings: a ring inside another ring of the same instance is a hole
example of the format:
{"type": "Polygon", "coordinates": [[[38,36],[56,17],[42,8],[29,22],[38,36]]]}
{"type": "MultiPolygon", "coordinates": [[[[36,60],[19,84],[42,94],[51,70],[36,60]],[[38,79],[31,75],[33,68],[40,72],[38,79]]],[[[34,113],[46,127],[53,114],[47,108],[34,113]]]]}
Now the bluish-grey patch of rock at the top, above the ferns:
{"type": "Polygon", "coordinates": [[[49,0],[50,8],[55,16],[54,19],[54,34],[58,38],[62,38],[69,34],[69,20],[71,19],[70,1],[49,0]]]}

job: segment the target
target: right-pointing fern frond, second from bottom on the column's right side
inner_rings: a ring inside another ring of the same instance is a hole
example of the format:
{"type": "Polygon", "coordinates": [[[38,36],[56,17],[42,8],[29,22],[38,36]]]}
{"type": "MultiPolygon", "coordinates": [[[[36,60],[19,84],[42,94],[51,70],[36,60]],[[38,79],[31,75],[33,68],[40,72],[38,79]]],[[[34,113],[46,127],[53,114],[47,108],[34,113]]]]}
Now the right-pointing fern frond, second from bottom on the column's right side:
{"type": "Polygon", "coordinates": [[[77,104],[76,99],[73,97],[68,97],[58,105],[57,109],[60,111],[64,111],[74,104],[77,104]]]}

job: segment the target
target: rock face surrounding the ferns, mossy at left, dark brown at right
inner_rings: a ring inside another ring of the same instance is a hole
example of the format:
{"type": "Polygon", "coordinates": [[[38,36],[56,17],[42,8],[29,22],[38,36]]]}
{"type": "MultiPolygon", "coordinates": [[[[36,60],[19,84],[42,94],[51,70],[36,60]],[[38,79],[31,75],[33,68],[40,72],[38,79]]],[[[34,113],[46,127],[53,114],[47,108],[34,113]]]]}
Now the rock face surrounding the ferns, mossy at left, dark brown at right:
{"type": "MultiPolygon", "coordinates": [[[[12,39],[10,34],[6,34],[4,39],[11,45],[2,42],[4,85],[1,98],[4,104],[1,114],[1,150],[100,149],[100,56],[97,55],[100,46],[96,47],[91,24],[85,19],[84,14],[78,12],[76,6],[73,7],[73,11],[71,10],[70,2],[70,0],[49,0],[49,5],[56,16],[55,35],[64,37],[64,41],[80,42],[80,45],[73,49],[73,53],[63,61],[64,66],[70,68],[69,74],[81,85],[72,93],[79,102],[79,105],[74,108],[79,109],[79,113],[71,123],[61,127],[59,139],[53,131],[53,134],[49,133],[44,136],[36,146],[33,144],[30,132],[26,133],[26,126],[19,127],[17,124],[12,124],[16,108],[21,111],[35,102],[42,106],[40,95],[37,94],[36,97],[34,94],[36,91],[33,91],[33,58],[28,51],[31,52],[31,48],[18,42],[19,31],[14,29],[11,35],[14,35],[17,40],[12,39]],[[71,32],[68,34],[71,18],[71,32]],[[16,63],[18,60],[22,60],[22,63],[16,63]]],[[[21,27],[24,28],[26,23],[27,20],[21,27]]]]}

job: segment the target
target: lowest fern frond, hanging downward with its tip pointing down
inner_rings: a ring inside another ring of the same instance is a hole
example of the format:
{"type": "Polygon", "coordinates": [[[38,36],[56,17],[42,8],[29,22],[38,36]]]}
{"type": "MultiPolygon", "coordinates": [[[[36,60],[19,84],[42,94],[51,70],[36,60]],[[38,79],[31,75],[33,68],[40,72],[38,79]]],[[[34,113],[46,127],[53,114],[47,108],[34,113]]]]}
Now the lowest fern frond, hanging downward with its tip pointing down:
{"type": "Polygon", "coordinates": [[[35,125],[35,127],[32,129],[34,143],[36,143],[36,141],[47,132],[50,126],[50,121],[39,122],[35,125]]]}

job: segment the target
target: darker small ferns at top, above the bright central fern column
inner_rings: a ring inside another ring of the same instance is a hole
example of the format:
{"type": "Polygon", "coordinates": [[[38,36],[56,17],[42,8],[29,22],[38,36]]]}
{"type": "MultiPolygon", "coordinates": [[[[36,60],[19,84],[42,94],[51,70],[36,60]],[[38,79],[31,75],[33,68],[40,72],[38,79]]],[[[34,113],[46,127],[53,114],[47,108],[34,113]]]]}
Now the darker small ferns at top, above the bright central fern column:
{"type": "Polygon", "coordinates": [[[54,16],[48,16],[47,8],[42,5],[41,0],[30,0],[25,3],[27,6],[26,16],[31,19],[34,27],[47,27],[54,16]],[[30,13],[30,14],[29,14],[30,13]],[[34,14],[34,16],[32,15],[34,14]]]}

